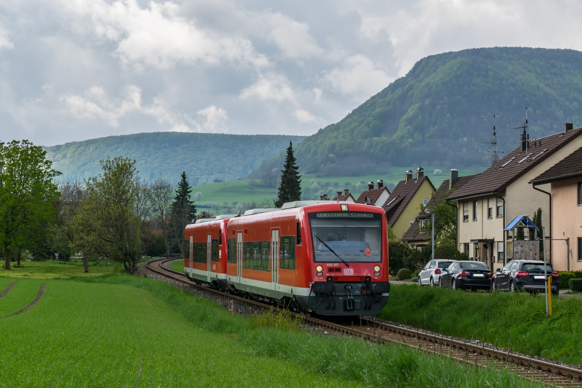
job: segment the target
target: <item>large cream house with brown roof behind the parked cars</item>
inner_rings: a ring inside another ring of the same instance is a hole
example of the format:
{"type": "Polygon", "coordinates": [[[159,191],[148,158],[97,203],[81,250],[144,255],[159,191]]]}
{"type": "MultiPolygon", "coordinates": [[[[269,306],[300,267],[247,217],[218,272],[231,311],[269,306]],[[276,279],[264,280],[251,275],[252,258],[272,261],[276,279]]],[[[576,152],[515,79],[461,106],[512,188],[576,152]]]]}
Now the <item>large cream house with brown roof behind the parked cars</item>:
{"type": "MultiPolygon", "coordinates": [[[[544,223],[551,219],[550,184],[533,186],[528,182],[582,147],[582,128],[573,129],[572,124],[565,124],[563,132],[534,140],[529,140],[524,133],[520,143],[520,147],[496,165],[447,197],[449,201],[458,201],[459,250],[471,259],[485,262],[491,269],[495,262],[505,264],[513,257],[513,246],[510,246],[513,236],[503,231],[510,220],[519,215],[533,216],[538,208],[542,209],[544,223]]],[[[549,223],[546,235],[552,236],[549,223]]],[[[550,261],[551,255],[550,251],[550,261]]]]}

